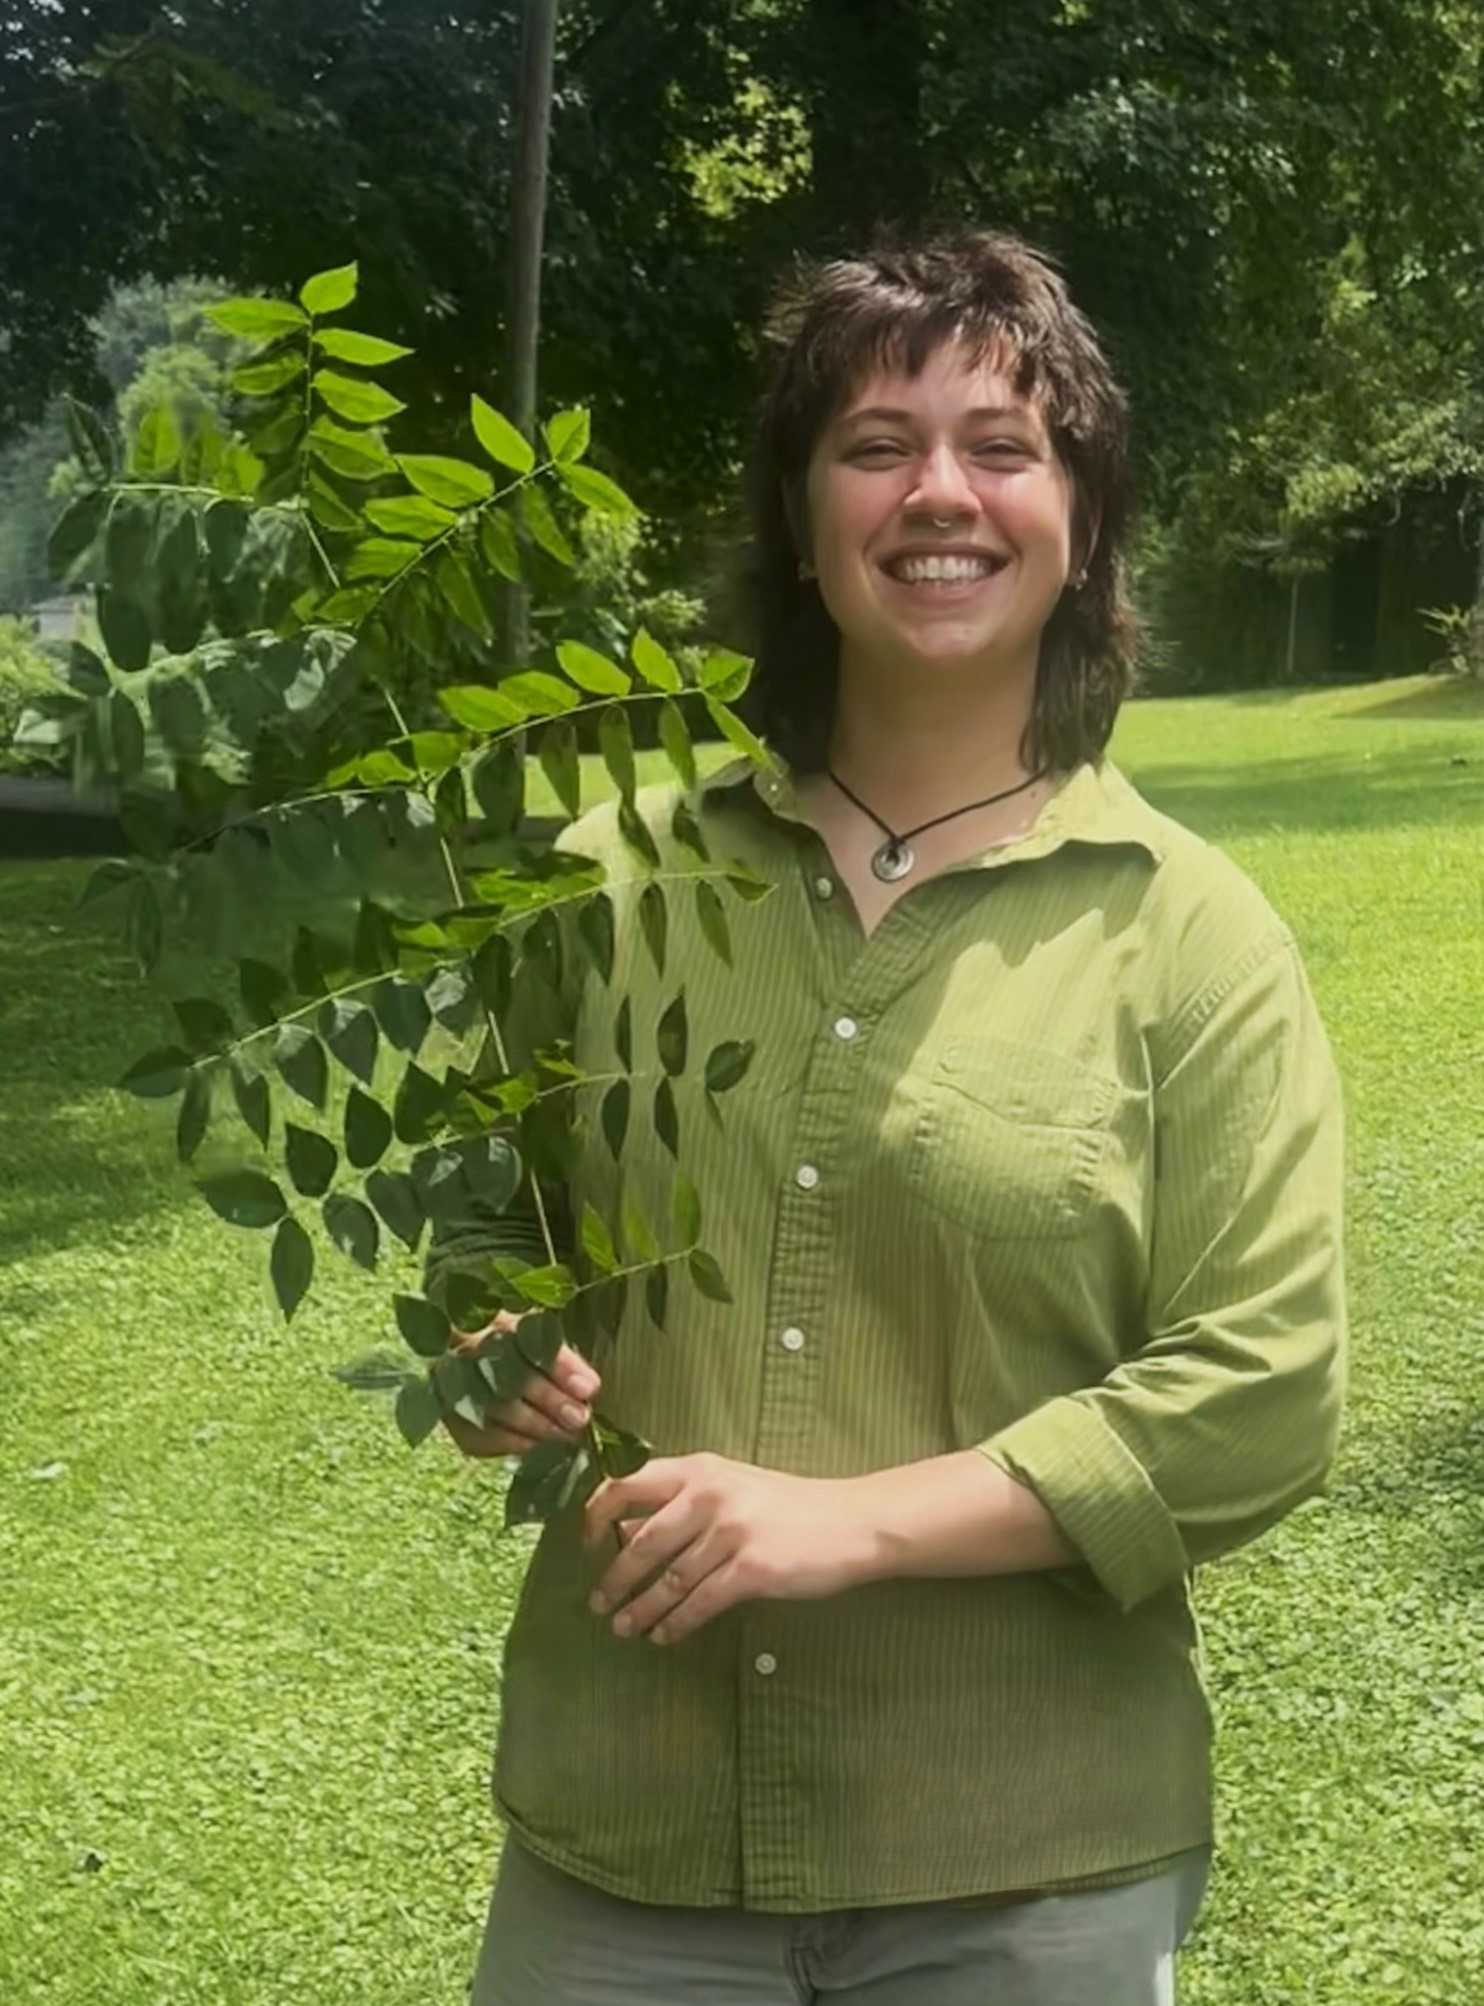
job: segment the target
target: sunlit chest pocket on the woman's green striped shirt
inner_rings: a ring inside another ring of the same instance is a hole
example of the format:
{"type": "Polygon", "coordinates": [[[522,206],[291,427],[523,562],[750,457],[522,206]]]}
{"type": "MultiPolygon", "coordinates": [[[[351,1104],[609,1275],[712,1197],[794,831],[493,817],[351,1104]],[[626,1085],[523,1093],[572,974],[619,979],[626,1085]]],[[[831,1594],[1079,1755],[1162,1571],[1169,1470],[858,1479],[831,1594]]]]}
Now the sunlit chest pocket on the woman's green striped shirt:
{"type": "Polygon", "coordinates": [[[1043,1045],[951,1039],[918,1087],[908,1184],[981,1240],[1073,1240],[1115,1097],[1117,1081],[1043,1045]]]}

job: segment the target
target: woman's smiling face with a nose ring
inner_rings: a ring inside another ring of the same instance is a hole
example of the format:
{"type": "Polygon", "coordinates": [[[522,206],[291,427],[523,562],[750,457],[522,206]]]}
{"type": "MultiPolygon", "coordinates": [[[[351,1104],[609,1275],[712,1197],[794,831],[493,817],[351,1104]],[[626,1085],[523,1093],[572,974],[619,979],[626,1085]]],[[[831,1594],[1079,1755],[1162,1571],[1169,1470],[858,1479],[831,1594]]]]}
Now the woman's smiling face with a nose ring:
{"type": "Polygon", "coordinates": [[[1071,568],[1067,469],[1041,409],[959,343],[864,381],[814,445],[808,560],[842,652],[1035,674],[1071,568]]]}

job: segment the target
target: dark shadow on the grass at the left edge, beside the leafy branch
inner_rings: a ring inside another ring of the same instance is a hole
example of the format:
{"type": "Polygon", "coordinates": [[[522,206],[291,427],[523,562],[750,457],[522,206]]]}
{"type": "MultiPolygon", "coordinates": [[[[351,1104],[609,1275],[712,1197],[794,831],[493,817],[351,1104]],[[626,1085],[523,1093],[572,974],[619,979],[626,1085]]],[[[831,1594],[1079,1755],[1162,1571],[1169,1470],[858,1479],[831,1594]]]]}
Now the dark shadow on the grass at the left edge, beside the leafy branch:
{"type": "Polygon", "coordinates": [[[164,1121],[106,1089],[160,1043],[128,959],[72,919],[76,863],[0,871],[0,1266],[172,1210],[164,1121]]]}

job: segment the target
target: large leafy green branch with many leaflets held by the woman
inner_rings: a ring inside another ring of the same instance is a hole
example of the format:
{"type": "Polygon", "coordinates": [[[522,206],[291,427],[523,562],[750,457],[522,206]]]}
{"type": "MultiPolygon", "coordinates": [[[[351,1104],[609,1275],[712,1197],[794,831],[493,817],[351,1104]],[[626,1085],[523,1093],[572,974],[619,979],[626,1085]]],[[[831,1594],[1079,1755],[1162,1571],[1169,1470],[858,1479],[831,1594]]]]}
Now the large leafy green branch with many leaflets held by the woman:
{"type": "MultiPolygon", "coordinates": [[[[572,1059],[562,999],[586,971],[612,983],[618,905],[660,981],[678,899],[730,959],[724,895],[768,887],[706,849],[688,716],[748,758],[766,752],[730,708],[748,662],[726,650],[700,656],[688,684],[642,628],[628,666],[560,640],[549,666],[491,678],[501,584],[533,560],[568,566],[566,524],[624,522],[632,504],[586,463],[582,409],[549,419],[541,457],[477,393],[479,459],[395,449],[407,405],[383,375],[407,349],[343,325],[355,293],[347,265],[297,303],[209,309],[247,345],[231,425],[205,405],[182,429],[166,399],[118,467],[108,427],[70,409],[84,485],[52,562],[96,580],[106,658],[74,644],[64,688],[16,738],[122,788],[136,855],[104,865],[86,903],[118,915],[178,1027],[124,1085],[178,1103],[178,1155],[207,1202],[271,1234],[285,1318],[311,1286],[317,1238],[375,1268],[387,1236],[411,1252],[429,1224],[471,1210],[499,1222],[493,1262],[455,1262],[435,1296],[397,1290],[395,1324],[421,1362],[347,1368],[395,1390],[403,1434],[421,1440],[445,1410],[479,1418],[509,1398],[564,1334],[590,1342],[630,1280],[656,1322],[676,1268],[726,1300],[680,1167],[682,1111],[720,1119],[750,1045],[692,1051],[682,985],[658,1023],[612,995],[616,1065],[592,1105],[614,1159],[630,1121],[652,1123],[676,1163],[670,1220],[648,1220],[628,1186],[616,1220],[592,1206],[570,1220],[576,1099],[594,1081],[572,1059]],[[399,698],[409,664],[421,716],[399,698]],[[636,800],[638,710],[658,714],[682,782],[668,828],[682,869],[662,865],[636,800]],[[568,822],[582,812],[584,718],[618,788],[630,879],[523,820],[527,748],[568,822]],[[227,987],[213,979],[223,965],[227,987]],[[493,1328],[501,1310],[521,1312],[515,1328],[493,1328]]],[[[584,1448],[525,1458],[511,1513],[539,1517],[642,1454],[596,1416],[584,1448]]]]}

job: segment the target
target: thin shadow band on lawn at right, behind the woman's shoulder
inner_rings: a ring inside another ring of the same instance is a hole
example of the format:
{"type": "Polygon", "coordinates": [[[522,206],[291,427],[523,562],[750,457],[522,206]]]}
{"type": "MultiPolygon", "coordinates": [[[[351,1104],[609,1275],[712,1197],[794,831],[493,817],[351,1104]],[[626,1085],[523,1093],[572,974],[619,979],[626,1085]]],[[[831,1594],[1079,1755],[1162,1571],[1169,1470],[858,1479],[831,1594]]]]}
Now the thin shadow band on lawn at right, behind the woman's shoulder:
{"type": "Polygon", "coordinates": [[[1336,752],[1143,770],[1131,762],[1129,774],[1155,808],[1217,839],[1438,826],[1484,814],[1484,746],[1468,758],[1452,740],[1408,752],[1378,750],[1366,766],[1356,764],[1354,752],[1336,752]]]}

